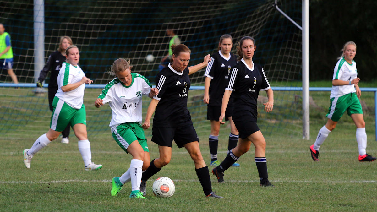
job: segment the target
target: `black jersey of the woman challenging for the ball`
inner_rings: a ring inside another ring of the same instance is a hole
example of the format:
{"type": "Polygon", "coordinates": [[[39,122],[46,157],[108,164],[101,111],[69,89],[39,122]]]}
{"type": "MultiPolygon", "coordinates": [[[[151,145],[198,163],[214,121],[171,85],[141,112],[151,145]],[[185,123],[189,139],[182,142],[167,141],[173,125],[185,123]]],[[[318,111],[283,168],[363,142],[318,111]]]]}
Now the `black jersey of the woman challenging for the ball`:
{"type": "Polygon", "coordinates": [[[156,85],[159,93],[153,98],[159,102],[153,126],[175,127],[179,123],[191,120],[187,109],[190,84],[188,67],[183,72],[177,72],[169,64],[157,74],[156,85]]]}

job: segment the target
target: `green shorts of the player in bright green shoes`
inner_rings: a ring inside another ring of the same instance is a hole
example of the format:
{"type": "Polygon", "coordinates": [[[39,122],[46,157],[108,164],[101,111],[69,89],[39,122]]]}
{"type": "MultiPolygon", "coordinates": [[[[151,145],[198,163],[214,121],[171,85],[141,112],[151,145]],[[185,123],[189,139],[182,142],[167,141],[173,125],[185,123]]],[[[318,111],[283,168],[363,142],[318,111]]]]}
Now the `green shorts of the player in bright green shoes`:
{"type": "MultiPolygon", "coordinates": [[[[127,148],[133,141],[138,140],[144,152],[149,152],[144,130],[139,122],[127,122],[118,125],[112,132],[116,143],[127,152],[127,148]]],[[[127,152],[128,153],[128,152],[127,152]]]]}

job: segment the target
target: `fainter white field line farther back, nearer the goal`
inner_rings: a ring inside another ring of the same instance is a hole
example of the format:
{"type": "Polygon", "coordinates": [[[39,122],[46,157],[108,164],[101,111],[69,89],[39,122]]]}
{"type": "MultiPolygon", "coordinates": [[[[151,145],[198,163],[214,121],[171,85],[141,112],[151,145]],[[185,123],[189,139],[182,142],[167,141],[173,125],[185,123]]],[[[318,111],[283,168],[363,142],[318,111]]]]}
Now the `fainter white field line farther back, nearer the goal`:
{"type": "MultiPolygon", "coordinates": [[[[210,154],[209,151],[201,151],[202,154],[210,154]]],[[[250,150],[249,152],[254,152],[253,150],[250,150]]],[[[272,151],[266,151],[266,154],[286,154],[286,153],[308,153],[309,152],[309,148],[308,150],[299,150],[299,151],[285,151],[285,150],[272,150],[272,151]]],[[[336,153],[336,152],[357,152],[357,149],[354,149],[354,150],[321,150],[321,153],[323,152],[330,152],[330,153],[336,153]]],[[[374,150],[368,150],[368,152],[376,152],[374,150]]],[[[78,150],[76,151],[63,151],[63,152],[58,152],[58,151],[39,151],[37,153],[37,155],[39,154],[78,154],[80,153],[78,150]]],[[[218,151],[218,154],[221,153],[227,153],[227,151],[218,151]]],[[[19,151],[19,152],[0,152],[0,155],[22,155],[22,151],[19,151]]],[[[117,155],[117,154],[126,154],[126,152],[124,151],[92,151],[92,154],[112,154],[112,155],[117,155]]],[[[189,152],[187,151],[180,151],[180,152],[177,152],[177,151],[173,151],[172,152],[173,155],[178,155],[178,154],[189,154],[189,152]]]]}

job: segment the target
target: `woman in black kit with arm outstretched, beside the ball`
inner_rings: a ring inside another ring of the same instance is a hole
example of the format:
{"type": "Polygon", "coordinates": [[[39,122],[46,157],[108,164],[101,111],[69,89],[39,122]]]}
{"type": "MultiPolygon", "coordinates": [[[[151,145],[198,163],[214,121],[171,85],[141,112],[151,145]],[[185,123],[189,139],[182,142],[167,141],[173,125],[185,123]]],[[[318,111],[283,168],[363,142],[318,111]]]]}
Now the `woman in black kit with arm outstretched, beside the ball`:
{"type": "Polygon", "coordinates": [[[193,127],[187,109],[187,94],[190,89],[189,75],[208,65],[210,55],[195,66],[188,67],[190,49],[184,44],[172,46],[172,62],[156,76],[158,95],[149,104],[143,128],[150,127],[150,118],[155,112],[152,127],[152,141],[158,144],[159,158],[150,162],[141,177],[140,191],[145,194],[146,181],[166,166],[172,158],[173,139],[179,148],[185,147],[195,164],[196,175],[205,196],[222,198],[212,191],[208,166],[205,165],[199,149],[199,138],[193,127]]]}

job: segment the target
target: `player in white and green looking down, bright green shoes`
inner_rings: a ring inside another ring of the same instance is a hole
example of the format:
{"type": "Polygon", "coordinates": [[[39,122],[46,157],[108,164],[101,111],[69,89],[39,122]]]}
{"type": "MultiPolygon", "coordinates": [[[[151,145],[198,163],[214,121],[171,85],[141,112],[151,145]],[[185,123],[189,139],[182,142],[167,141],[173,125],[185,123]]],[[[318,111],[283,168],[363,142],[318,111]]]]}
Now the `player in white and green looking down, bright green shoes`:
{"type": "Polygon", "coordinates": [[[150,156],[147,140],[141,128],[141,97],[152,98],[158,89],[152,88],[149,80],[140,74],[131,73],[130,60],[119,58],[111,65],[109,74],[116,78],[106,84],[102,94],[94,102],[96,108],[109,102],[112,110],[110,128],[114,140],[132,155],[130,168],[121,176],[112,179],[111,195],[116,196],[124,183],[131,181],[130,198],[141,198],[141,172],[149,166],[150,156]],[[132,176],[132,177],[131,177],[132,176]]]}

